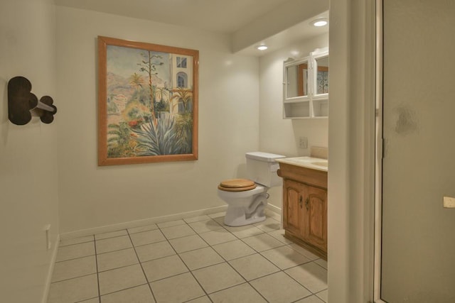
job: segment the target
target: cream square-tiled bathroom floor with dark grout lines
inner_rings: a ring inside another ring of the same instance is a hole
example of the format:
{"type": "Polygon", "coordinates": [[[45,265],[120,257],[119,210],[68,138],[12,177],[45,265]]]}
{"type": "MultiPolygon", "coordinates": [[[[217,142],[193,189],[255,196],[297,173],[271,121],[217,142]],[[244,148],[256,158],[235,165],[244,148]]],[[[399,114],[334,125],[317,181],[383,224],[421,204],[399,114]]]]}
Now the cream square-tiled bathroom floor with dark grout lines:
{"type": "Polygon", "coordinates": [[[327,302],[327,263],[283,237],[279,216],[224,213],[60,242],[48,303],[327,302]]]}

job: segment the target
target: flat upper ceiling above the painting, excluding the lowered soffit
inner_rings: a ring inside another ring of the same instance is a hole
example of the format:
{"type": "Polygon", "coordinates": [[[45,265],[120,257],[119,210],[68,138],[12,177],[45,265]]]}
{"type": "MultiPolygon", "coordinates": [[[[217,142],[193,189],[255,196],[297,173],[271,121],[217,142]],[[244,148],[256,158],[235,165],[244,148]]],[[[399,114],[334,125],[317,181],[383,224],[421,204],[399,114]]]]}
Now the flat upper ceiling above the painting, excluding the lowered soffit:
{"type": "Polygon", "coordinates": [[[55,4],[233,33],[287,0],[55,0],[55,4]]]}

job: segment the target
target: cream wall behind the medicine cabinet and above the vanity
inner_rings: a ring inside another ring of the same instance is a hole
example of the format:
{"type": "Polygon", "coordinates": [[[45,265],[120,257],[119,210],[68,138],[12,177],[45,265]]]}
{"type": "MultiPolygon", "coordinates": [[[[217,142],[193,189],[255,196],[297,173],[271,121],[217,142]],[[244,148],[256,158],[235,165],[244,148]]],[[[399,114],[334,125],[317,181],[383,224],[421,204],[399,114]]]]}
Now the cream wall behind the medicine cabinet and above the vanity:
{"type": "MultiPolygon", "coordinates": [[[[283,61],[306,57],[316,48],[328,47],[328,33],[303,40],[260,57],[259,149],[288,157],[310,155],[311,146],[328,147],[328,119],[283,119],[283,61]],[[299,137],[308,148],[299,148],[299,137]]],[[[269,190],[269,204],[282,207],[282,189],[269,190]]]]}

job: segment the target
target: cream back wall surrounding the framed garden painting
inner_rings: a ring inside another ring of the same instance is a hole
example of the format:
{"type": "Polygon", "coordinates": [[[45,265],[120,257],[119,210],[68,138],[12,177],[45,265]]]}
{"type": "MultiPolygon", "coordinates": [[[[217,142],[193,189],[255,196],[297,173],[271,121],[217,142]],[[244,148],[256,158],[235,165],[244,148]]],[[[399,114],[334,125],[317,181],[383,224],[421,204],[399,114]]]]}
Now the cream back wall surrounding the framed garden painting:
{"type": "Polygon", "coordinates": [[[259,148],[259,63],[228,35],[58,7],[63,233],[225,205],[220,180],[245,176],[259,148]],[[199,160],[97,166],[97,35],[200,51],[199,160]]]}

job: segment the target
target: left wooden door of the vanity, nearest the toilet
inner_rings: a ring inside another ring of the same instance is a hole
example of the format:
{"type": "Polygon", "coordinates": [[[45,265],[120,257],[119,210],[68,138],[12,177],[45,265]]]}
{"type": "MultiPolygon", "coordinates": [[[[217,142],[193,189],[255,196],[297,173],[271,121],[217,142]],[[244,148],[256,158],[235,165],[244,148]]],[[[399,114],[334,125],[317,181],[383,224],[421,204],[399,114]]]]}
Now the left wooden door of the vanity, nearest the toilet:
{"type": "Polygon", "coordinates": [[[283,183],[283,227],[294,236],[303,236],[302,207],[306,185],[291,180],[283,183]]]}

